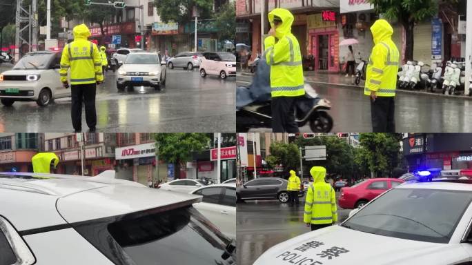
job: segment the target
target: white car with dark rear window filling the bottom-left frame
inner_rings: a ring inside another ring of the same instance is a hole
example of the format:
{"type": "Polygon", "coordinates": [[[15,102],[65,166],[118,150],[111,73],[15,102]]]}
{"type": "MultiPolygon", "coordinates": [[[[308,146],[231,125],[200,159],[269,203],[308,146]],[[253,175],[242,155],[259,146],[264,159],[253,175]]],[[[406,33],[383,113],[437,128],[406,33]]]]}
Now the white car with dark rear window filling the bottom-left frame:
{"type": "Polygon", "coordinates": [[[235,264],[200,196],[96,177],[0,173],[0,264],[235,264]]]}

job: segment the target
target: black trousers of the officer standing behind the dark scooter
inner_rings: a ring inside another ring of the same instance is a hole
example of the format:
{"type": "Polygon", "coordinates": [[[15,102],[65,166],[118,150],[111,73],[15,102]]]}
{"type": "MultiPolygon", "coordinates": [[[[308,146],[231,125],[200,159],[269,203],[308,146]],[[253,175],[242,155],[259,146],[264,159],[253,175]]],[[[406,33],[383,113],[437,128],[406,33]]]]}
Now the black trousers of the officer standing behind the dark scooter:
{"type": "Polygon", "coordinates": [[[297,97],[272,98],[273,133],[299,133],[295,121],[295,101],[297,97]]]}

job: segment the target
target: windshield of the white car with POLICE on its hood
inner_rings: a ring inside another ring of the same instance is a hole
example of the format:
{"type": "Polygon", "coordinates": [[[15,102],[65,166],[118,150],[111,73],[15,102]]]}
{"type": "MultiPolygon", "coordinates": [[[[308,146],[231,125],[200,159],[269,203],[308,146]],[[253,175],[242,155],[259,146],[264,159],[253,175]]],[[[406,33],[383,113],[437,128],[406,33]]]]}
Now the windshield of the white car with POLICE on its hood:
{"type": "Polygon", "coordinates": [[[388,237],[448,243],[471,200],[472,194],[466,191],[395,188],[342,226],[388,237]]]}

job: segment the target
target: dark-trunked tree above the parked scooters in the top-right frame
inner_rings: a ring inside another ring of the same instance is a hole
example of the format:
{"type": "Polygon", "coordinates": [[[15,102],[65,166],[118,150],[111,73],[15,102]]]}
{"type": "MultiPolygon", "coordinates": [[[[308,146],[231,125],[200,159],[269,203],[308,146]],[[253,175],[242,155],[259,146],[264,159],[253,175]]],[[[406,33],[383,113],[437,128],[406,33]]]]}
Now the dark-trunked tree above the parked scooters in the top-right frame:
{"type": "MultiPolygon", "coordinates": [[[[405,59],[413,60],[413,29],[416,23],[430,19],[437,14],[435,0],[368,0],[373,4],[377,14],[386,19],[397,19],[405,30],[405,59]]],[[[457,0],[449,0],[457,3],[457,0]]]]}

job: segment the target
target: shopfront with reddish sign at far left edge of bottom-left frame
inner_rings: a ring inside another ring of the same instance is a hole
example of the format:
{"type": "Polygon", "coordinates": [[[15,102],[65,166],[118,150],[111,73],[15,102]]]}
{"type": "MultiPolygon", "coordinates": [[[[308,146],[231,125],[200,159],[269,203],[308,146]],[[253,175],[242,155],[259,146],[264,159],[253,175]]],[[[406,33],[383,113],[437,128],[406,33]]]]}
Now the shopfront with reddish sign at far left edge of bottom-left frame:
{"type": "Polygon", "coordinates": [[[31,158],[36,151],[7,151],[0,153],[0,172],[32,172],[31,158]]]}

